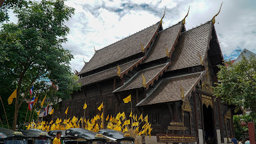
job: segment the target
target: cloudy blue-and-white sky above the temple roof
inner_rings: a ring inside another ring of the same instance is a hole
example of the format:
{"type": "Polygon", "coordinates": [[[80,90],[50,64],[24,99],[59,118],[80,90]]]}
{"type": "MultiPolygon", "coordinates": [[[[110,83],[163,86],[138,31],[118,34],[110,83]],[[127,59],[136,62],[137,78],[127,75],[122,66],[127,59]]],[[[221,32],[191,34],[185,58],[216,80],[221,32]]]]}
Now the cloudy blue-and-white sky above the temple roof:
{"type": "MultiPolygon", "coordinates": [[[[67,0],[65,4],[76,8],[72,18],[65,22],[70,28],[68,42],[63,44],[74,55],[70,67],[83,68],[96,50],[122,40],[142,29],[156,24],[163,17],[166,29],[186,18],[186,29],[192,29],[216,17],[216,33],[224,59],[236,59],[239,51],[248,49],[256,53],[256,1],[255,0],[125,0],[84,1],[67,0]]],[[[11,21],[15,17],[11,15],[11,21]]]]}

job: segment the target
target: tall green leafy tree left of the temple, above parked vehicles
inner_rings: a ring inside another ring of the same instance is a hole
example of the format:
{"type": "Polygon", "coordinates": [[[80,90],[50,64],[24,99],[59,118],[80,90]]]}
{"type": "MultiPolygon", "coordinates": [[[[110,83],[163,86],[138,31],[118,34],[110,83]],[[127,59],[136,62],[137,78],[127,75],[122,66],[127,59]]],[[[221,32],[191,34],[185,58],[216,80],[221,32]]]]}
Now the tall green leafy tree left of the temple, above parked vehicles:
{"type": "MultiPolygon", "coordinates": [[[[70,51],[61,44],[67,41],[68,27],[65,20],[74,14],[74,8],[64,0],[29,1],[15,7],[17,24],[3,24],[0,29],[0,95],[7,101],[17,88],[17,99],[8,106],[13,108],[12,129],[15,129],[19,110],[28,101],[29,89],[35,84],[35,92],[56,104],[67,99],[80,88],[77,76],[72,74],[70,51]],[[53,85],[52,85],[53,83],[53,85]],[[54,88],[56,86],[56,88],[54,88]]],[[[6,102],[5,102],[6,104],[6,102]]],[[[28,104],[25,104],[26,108],[28,104]]],[[[21,123],[22,124],[22,123],[21,123]]]]}

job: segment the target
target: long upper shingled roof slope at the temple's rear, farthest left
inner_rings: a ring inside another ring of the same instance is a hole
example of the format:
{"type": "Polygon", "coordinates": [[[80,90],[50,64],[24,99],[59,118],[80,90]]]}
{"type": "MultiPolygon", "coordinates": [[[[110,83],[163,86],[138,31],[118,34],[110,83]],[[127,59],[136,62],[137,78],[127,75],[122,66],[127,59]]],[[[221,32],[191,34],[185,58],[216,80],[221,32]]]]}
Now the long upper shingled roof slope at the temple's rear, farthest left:
{"type": "Polygon", "coordinates": [[[134,54],[141,52],[141,44],[144,45],[144,49],[150,44],[150,41],[156,35],[157,30],[161,24],[157,22],[153,26],[150,26],[134,35],[128,36],[114,44],[108,45],[103,49],[99,49],[95,52],[92,59],[88,62],[86,67],[79,72],[79,74],[84,74],[90,72],[97,68],[103,67],[115,61],[128,58],[134,54]]]}

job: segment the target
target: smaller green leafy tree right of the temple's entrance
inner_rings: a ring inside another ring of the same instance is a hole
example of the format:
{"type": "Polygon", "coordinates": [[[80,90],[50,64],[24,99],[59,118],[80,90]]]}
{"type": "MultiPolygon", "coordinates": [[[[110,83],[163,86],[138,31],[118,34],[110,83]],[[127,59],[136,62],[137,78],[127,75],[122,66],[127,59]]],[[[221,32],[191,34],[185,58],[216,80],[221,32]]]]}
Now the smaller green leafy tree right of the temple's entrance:
{"type": "Polygon", "coordinates": [[[256,118],[256,58],[250,56],[236,64],[219,65],[218,83],[214,95],[228,104],[236,106],[236,110],[250,108],[252,118],[256,118]]]}

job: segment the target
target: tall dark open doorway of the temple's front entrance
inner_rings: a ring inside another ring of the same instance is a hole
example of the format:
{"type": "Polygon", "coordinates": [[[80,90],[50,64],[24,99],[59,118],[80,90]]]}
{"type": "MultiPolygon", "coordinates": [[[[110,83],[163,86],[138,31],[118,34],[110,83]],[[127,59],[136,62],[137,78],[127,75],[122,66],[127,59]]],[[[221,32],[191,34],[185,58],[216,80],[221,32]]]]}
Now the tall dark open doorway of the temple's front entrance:
{"type": "Polygon", "coordinates": [[[204,113],[204,140],[207,144],[214,144],[216,139],[214,138],[214,120],[212,116],[212,108],[208,108],[203,105],[204,113]]]}

